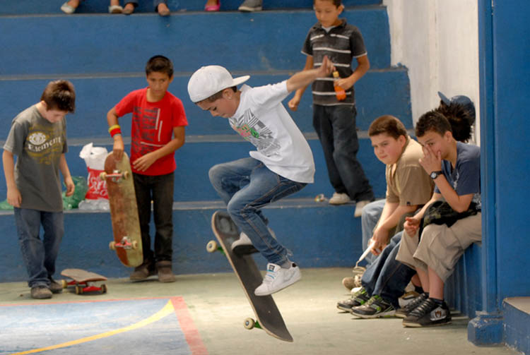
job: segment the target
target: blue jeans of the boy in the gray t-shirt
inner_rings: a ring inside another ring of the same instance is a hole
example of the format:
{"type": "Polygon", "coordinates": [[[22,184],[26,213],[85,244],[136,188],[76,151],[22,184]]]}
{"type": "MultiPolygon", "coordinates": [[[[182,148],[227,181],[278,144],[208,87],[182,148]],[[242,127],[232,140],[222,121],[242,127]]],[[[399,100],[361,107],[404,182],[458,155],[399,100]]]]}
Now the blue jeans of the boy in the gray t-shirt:
{"type": "Polygon", "coordinates": [[[63,212],[14,208],[20,251],[28,271],[29,287],[49,287],[64,235],[63,212]],[[44,229],[40,239],[40,225],[44,229]]]}

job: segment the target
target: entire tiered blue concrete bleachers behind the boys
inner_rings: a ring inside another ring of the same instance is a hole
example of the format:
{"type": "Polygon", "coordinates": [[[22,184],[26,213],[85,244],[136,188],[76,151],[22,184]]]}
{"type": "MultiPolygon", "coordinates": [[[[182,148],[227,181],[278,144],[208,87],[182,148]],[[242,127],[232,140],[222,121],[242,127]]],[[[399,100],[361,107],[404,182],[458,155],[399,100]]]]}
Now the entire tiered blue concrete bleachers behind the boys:
{"type": "MultiPolygon", "coordinates": [[[[206,253],[212,238],[210,217],[222,208],[208,181],[208,169],[218,162],[247,157],[252,145],[241,140],[228,123],[202,112],[187,95],[187,79],[197,68],[220,64],[234,75],[250,74],[249,85],[285,80],[305,64],[300,53],[307,30],[316,20],[311,1],[266,1],[261,13],[234,11],[240,1],[223,1],[219,13],[201,11],[204,1],[186,1],[186,10],[169,1],[175,13],[160,18],[145,1],[133,16],[109,15],[107,1],[86,0],[78,13],[60,13],[52,1],[28,0],[24,8],[6,4],[1,9],[0,32],[0,140],[7,136],[11,119],[37,102],[49,80],[66,78],[76,86],[77,110],[68,117],[69,152],[66,159],[73,175],[86,175],[78,157],[86,143],[112,149],[105,115],[127,92],[146,85],[143,68],[154,54],[165,54],[175,65],[170,91],[180,97],[187,111],[187,143],[176,153],[175,174],[175,272],[228,271],[228,263],[206,253]]],[[[394,114],[412,128],[411,99],[406,68],[390,66],[389,25],[381,1],[345,1],[343,13],[363,32],[372,68],[355,85],[360,129],[358,158],[378,197],[384,196],[384,165],[372,152],[366,130],[382,114],[394,114]]],[[[312,128],[312,100],[306,92],[293,119],[310,142],[317,173],[315,183],[300,193],[267,207],[278,238],[291,248],[303,267],[351,266],[361,253],[360,219],[353,205],[341,207],[316,203],[314,196],[333,193],[322,148],[312,128]]],[[[130,116],[120,120],[124,135],[130,116]]],[[[127,138],[127,137],[126,137],[127,138]]],[[[5,198],[0,177],[0,200],[5,198]]],[[[16,229],[11,212],[0,214],[6,241],[0,251],[0,282],[25,279],[20,265],[16,229]]],[[[108,241],[112,236],[108,212],[69,211],[66,236],[57,267],[83,267],[110,277],[128,275],[108,241]]],[[[264,260],[258,257],[263,265],[264,260]]]]}

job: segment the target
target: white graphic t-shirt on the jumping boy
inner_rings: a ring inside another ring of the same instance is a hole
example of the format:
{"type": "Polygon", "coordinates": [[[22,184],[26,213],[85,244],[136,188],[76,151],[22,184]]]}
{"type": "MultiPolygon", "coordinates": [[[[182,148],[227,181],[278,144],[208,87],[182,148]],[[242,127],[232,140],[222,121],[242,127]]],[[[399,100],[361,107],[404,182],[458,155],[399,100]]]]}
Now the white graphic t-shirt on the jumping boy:
{"type": "Polygon", "coordinates": [[[257,148],[250,156],[287,179],[312,183],[311,148],[281,104],[289,95],[286,81],[257,88],[243,85],[241,92],[230,126],[257,148]]]}

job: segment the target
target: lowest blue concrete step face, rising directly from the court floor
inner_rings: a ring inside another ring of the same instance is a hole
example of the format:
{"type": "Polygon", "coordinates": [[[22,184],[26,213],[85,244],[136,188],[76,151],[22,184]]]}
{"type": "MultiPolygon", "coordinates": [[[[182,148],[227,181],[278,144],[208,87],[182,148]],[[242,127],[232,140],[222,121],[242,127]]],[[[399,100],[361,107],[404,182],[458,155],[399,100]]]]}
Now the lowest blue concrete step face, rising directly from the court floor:
{"type": "MultiPolygon", "coordinates": [[[[211,215],[223,209],[220,201],[175,204],[173,208],[173,271],[179,275],[228,272],[230,265],[221,253],[210,254],[206,243],[215,239],[211,215]]],[[[293,251],[304,267],[351,267],[361,253],[360,218],[353,218],[351,206],[330,206],[312,199],[286,198],[264,209],[278,240],[293,251]]],[[[16,239],[12,212],[0,212],[0,225],[8,242],[0,249],[0,282],[27,278],[16,239]]],[[[127,277],[114,251],[109,212],[66,212],[65,236],[61,242],[57,270],[79,267],[106,275],[127,277]]],[[[151,228],[153,230],[153,228],[151,228]]],[[[152,233],[153,234],[153,233],[152,233]]],[[[266,260],[256,255],[264,270],[266,260]]]]}

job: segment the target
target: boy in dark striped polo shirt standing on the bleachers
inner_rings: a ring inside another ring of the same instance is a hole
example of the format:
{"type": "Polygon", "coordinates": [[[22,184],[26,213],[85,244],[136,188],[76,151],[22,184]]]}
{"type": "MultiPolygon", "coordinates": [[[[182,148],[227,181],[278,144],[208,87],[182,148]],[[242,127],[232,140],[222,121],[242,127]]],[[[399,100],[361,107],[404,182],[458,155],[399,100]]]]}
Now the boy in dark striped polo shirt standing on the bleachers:
{"type": "MultiPolygon", "coordinates": [[[[329,203],[341,205],[355,200],[355,217],[360,217],[363,207],[374,199],[374,194],[356,158],[359,143],[353,85],[368,71],[370,61],[358,28],[338,18],[343,9],[341,0],[314,0],[318,23],[307,33],[302,54],[307,56],[304,70],[319,67],[324,56],[328,56],[338,71],[338,79],[330,75],[317,78],[312,84],[313,126],[324,150],[329,180],[335,189],[329,203]],[[351,67],[353,58],[358,64],[355,70],[351,67]],[[346,99],[338,100],[335,85],[346,92],[346,99]]],[[[298,109],[305,88],[297,90],[290,100],[288,105],[293,111],[298,109]]]]}

